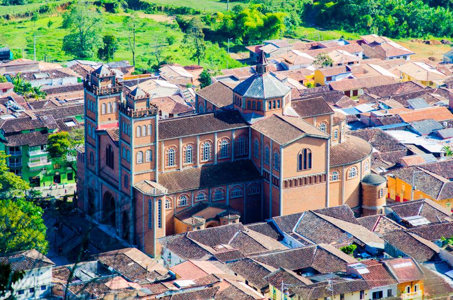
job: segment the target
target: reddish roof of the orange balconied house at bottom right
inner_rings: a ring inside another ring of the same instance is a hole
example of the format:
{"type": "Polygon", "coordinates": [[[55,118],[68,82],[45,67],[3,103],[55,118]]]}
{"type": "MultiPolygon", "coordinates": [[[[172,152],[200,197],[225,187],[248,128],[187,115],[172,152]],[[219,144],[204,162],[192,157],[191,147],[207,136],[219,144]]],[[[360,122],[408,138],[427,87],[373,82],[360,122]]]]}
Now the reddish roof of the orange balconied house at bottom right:
{"type": "Polygon", "coordinates": [[[422,270],[413,258],[381,259],[388,269],[391,269],[399,283],[424,279],[422,270]]]}

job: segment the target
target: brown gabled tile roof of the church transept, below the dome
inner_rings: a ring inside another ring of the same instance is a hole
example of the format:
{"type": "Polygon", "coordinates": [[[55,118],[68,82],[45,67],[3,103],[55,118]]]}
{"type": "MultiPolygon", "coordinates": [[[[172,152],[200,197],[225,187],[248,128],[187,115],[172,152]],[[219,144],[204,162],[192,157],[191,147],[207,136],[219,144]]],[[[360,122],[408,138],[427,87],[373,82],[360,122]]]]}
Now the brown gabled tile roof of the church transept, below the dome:
{"type": "Polygon", "coordinates": [[[308,122],[284,115],[273,114],[251,126],[253,129],[284,145],[306,135],[327,138],[329,135],[308,122]]]}

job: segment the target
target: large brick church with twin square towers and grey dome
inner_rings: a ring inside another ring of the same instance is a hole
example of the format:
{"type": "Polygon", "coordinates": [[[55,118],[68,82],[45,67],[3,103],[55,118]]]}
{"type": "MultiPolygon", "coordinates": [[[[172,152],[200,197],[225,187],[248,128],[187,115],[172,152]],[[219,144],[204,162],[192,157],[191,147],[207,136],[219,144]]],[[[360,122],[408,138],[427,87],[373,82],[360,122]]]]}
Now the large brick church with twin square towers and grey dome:
{"type": "Polygon", "coordinates": [[[233,109],[207,112],[197,98],[198,114],[170,119],[107,66],[89,74],[79,208],[153,256],[158,238],[222,224],[341,204],[381,212],[371,145],[322,97],[291,101],[264,55],[256,70],[233,89],[233,109]]]}

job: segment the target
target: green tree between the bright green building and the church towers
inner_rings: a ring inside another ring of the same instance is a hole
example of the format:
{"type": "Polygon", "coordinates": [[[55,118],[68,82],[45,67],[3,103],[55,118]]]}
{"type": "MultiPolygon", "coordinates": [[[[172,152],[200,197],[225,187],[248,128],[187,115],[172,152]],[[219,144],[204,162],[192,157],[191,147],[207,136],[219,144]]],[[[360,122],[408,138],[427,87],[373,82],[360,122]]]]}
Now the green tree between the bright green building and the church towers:
{"type": "MultiPolygon", "coordinates": [[[[84,129],[74,128],[70,132],[59,131],[47,138],[49,156],[62,166],[71,168],[77,174],[77,151],[75,148],[84,143],[84,129]]],[[[76,177],[77,180],[77,177],[76,177]]]]}

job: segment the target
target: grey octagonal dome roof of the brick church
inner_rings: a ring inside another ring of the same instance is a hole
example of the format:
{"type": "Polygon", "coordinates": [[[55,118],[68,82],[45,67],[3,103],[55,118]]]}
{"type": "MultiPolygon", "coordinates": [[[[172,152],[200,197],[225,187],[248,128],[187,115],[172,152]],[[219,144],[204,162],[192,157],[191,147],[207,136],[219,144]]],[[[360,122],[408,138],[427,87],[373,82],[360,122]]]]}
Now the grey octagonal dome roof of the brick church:
{"type": "Polygon", "coordinates": [[[233,89],[233,92],[243,97],[258,99],[284,97],[290,91],[290,88],[270,73],[253,74],[233,89]]]}

